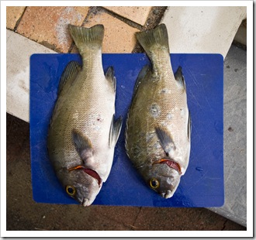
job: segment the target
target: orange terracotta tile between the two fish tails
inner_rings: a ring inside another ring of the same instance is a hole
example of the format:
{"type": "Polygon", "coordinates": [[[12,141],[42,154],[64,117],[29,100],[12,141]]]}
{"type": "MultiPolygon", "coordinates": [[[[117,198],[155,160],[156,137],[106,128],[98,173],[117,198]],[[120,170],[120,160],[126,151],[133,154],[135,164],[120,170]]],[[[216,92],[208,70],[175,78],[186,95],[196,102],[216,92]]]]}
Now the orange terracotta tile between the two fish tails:
{"type": "Polygon", "coordinates": [[[126,23],[112,17],[106,12],[99,12],[96,15],[89,15],[85,27],[91,27],[95,24],[103,24],[105,35],[103,39],[103,53],[131,53],[135,44],[135,29],[126,23]]]}

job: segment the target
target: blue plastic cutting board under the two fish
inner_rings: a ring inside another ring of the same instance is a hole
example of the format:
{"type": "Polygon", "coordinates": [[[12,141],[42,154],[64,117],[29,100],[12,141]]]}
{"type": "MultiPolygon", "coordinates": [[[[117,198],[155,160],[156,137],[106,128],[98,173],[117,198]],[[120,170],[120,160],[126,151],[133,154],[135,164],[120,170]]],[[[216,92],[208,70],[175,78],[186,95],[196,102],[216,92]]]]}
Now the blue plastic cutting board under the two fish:
{"type": "MultiPolygon", "coordinates": [[[[77,204],[61,187],[47,156],[47,129],[57,87],[67,63],[78,54],[34,54],[30,58],[30,146],[33,199],[40,203],[77,204]]],[[[223,189],[223,57],[219,54],[171,54],[173,70],[182,66],[192,117],[189,168],[175,195],[164,199],[147,187],[126,156],[124,129],[143,53],[103,54],[103,68],[113,66],[117,79],[116,117],[123,128],[112,170],[93,204],[151,207],[219,207],[223,189]]]]}

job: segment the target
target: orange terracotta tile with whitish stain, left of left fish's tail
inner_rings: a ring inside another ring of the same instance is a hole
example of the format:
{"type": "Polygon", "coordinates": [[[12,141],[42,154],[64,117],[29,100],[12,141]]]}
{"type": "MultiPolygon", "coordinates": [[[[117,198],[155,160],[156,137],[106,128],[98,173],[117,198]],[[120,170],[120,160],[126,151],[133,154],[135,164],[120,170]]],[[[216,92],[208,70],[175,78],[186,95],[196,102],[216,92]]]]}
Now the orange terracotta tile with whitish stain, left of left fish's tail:
{"type": "Polygon", "coordinates": [[[81,26],[89,7],[28,7],[17,32],[57,52],[67,53],[72,40],[69,23],[81,26]]]}

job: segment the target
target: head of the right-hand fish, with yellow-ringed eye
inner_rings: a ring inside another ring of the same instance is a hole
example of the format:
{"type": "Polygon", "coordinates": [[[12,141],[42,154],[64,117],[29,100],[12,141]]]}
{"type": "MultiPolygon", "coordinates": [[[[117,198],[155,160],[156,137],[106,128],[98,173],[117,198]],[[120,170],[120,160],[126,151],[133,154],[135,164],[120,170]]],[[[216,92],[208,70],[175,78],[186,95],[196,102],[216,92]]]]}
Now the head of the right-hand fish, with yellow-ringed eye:
{"type": "MultiPolygon", "coordinates": [[[[156,161],[143,171],[144,180],[161,197],[170,198],[175,194],[181,180],[181,172],[168,159],[156,161]],[[147,169],[147,170],[146,170],[147,169]]],[[[171,161],[172,162],[172,161],[171,161]]]]}

